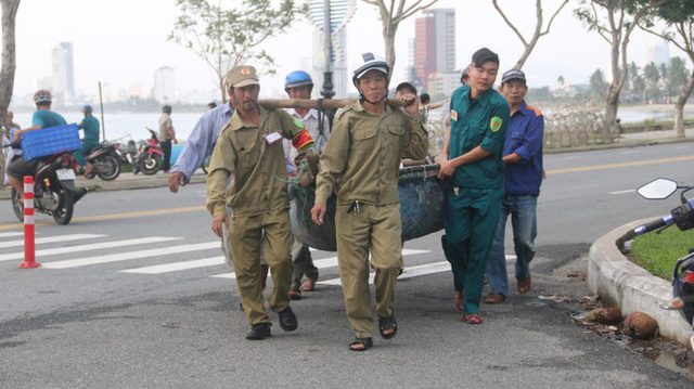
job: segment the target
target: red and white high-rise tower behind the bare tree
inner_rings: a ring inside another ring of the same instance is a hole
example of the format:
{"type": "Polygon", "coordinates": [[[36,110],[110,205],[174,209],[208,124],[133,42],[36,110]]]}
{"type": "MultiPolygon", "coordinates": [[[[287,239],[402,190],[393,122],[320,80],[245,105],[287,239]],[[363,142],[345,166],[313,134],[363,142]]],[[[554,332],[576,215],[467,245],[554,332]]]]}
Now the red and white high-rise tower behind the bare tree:
{"type": "Polygon", "coordinates": [[[429,75],[455,69],[455,10],[432,9],[414,21],[414,74],[428,90],[429,75]]]}

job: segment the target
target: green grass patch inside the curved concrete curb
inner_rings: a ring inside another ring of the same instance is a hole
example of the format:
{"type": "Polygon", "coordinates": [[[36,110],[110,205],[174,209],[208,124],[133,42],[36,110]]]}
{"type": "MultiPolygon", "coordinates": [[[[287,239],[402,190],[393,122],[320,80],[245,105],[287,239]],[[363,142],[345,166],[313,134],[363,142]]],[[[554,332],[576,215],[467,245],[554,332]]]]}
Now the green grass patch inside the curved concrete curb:
{"type": "Polygon", "coordinates": [[[631,259],[651,273],[672,281],[672,267],[690,248],[694,248],[694,229],[680,231],[670,226],[664,232],[638,236],[631,244],[631,259]]]}

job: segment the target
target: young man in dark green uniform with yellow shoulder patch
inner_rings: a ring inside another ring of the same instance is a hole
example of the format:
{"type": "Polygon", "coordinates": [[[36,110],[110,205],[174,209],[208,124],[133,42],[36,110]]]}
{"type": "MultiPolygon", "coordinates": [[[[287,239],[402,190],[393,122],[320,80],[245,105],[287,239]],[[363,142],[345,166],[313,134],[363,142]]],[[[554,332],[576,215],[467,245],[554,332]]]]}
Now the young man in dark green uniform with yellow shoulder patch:
{"type": "Polygon", "coordinates": [[[478,50],[467,72],[468,85],[451,96],[450,142],[440,161],[439,178],[450,178],[441,243],[462,319],[481,324],[481,288],[503,198],[502,152],[510,109],[492,89],[499,72],[496,53],[478,50]]]}

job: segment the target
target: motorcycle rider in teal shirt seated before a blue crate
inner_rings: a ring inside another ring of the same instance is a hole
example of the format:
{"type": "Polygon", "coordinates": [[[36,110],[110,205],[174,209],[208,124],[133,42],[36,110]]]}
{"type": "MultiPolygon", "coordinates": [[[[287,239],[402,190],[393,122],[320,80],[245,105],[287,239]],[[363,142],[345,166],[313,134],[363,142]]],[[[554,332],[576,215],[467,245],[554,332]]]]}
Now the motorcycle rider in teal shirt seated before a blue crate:
{"type": "MultiPolygon", "coordinates": [[[[28,131],[40,130],[42,128],[65,126],[67,122],[57,113],[51,111],[51,102],[53,96],[51,92],[41,89],[34,93],[34,104],[36,104],[36,112],[31,117],[31,127],[17,131],[14,134],[14,142],[18,142],[22,134],[28,131]]],[[[31,176],[36,171],[36,167],[39,165],[41,158],[34,160],[24,160],[24,156],[15,159],[8,167],[8,174],[10,176],[10,184],[15,191],[24,196],[24,176],[31,176]]]]}

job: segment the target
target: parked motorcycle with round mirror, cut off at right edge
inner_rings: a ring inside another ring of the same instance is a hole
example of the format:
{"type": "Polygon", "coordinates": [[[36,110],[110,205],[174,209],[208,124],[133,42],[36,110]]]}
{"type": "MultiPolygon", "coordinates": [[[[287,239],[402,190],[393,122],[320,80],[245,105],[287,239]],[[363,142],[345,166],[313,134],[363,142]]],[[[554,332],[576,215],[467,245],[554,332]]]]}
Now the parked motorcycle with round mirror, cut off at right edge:
{"type": "MultiPolygon", "coordinates": [[[[694,228],[694,198],[687,199],[684,195],[694,190],[694,186],[680,186],[677,182],[668,179],[656,179],[639,187],[637,193],[646,199],[666,199],[678,190],[681,205],[673,208],[664,218],[650,221],[628,231],[618,241],[617,245],[624,247],[625,243],[637,236],[652,231],[657,233],[677,225],[680,231],[694,228]]],[[[680,258],[672,268],[672,299],[660,306],[665,310],[678,310],[682,317],[694,329],[694,248],[690,248],[689,255],[680,258]]],[[[694,335],[690,338],[694,349],[694,335]]]]}

